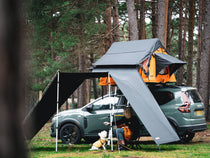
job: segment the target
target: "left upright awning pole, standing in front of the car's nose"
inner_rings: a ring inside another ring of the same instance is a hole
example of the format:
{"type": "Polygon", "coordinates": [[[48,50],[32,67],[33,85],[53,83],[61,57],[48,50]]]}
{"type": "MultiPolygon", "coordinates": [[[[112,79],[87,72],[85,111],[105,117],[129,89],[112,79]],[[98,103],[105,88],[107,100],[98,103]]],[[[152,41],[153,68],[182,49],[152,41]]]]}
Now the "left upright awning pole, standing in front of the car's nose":
{"type": "Polygon", "coordinates": [[[58,111],[59,111],[59,80],[60,80],[60,71],[57,72],[57,118],[56,118],[56,147],[55,151],[58,151],[58,111]]]}

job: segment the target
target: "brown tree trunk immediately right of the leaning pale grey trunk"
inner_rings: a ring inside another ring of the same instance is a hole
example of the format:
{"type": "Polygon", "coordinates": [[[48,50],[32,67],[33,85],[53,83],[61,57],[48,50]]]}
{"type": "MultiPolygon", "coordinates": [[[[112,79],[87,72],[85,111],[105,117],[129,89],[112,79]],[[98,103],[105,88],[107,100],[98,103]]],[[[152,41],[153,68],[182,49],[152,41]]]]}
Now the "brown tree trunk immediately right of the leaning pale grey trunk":
{"type": "Polygon", "coordinates": [[[145,31],[145,0],[140,0],[139,39],[146,39],[146,31],[145,31]]]}

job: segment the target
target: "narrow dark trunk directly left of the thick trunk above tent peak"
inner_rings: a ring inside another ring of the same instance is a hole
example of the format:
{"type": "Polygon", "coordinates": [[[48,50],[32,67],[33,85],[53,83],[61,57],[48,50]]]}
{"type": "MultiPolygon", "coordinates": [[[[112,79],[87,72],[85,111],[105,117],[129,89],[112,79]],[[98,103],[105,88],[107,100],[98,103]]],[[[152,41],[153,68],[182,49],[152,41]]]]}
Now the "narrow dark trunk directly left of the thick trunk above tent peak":
{"type": "Polygon", "coordinates": [[[153,38],[157,38],[157,27],[158,27],[158,24],[157,24],[157,3],[156,3],[156,0],[152,0],[152,37],[153,38]]]}

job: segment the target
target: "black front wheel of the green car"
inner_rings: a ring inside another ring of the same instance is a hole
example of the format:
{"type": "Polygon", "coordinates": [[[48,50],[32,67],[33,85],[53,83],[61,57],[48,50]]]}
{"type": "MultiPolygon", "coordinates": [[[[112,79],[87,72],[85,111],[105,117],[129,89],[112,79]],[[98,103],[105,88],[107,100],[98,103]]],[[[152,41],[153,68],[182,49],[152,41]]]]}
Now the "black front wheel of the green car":
{"type": "Polygon", "coordinates": [[[81,139],[79,128],[72,123],[65,124],[61,127],[60,138],[64,144],[76,144],[81,139]]]}

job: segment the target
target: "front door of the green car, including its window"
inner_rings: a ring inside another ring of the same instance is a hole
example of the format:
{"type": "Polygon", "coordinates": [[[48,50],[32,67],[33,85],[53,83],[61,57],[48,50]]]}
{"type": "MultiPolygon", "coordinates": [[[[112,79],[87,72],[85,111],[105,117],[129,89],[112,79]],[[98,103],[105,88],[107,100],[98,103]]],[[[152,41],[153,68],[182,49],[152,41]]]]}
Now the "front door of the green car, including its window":
{"type": "Polygon", "coordinates": [[[93,102],[91,110],[85,112],[86,128],[85,135],[96,136],[102,130],[109,130],[109,126],[104,125],[104,122],[110,118],[110,103],[116,105],[118,97],[103,97],[96,102],[93,102]]]}

